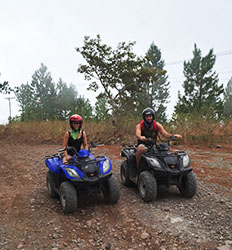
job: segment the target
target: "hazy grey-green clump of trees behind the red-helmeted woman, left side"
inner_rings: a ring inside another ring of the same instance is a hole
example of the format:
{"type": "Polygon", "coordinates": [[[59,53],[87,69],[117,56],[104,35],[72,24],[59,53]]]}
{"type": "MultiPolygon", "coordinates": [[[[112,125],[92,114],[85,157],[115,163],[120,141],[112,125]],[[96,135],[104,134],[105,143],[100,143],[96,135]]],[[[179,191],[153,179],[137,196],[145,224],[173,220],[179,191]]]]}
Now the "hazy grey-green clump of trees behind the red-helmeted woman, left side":
{"type": "Polygon", "coordinates": [[[16,97],[22,121],[65,120],[77,112],[84,118],[92,115],[89,101],[77,96],[75,86],[68,87],[62,79],[55,84],[43,64],[33,74],[31,83],[19,87],[16,97]]]}

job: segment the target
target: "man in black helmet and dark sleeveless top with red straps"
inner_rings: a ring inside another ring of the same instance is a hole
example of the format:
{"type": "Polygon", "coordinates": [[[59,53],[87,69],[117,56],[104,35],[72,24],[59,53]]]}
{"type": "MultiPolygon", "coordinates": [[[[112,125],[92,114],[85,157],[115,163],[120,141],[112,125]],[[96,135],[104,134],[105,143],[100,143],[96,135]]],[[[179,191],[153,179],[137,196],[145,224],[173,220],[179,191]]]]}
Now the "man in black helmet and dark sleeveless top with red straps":
{"type": "Polygon", "coordinates": [[[179,134],[172,135],[168,133],[160,123],[156,122],[155,111],[153,109],[146,108],[143,110],[142,114],[143,120],[136,125],[136,137],[138,139],[138,148],[136,153],[137,166],[139,166],[141,155],[147,151],[146,145],[149,144],[149,141],[147,140],[148,138],[150,138],[153,142],[156,142],[159,132],[167,139],[171,136],[174,136],[176,139],[182,138],[179,134]]]}

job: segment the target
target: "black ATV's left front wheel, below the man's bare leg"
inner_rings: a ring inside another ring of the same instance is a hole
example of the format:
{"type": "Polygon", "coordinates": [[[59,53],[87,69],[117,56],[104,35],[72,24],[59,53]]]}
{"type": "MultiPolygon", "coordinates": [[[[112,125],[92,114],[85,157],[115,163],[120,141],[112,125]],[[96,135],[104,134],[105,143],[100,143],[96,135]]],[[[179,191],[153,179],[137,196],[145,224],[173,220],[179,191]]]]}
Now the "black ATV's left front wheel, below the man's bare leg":
{"type": "Polygon", "coordinates": [[[155,177],[148,171],[144,171],[139,175],[138,188],[141,198],[150,202],[156,198],[157,183],[155,177]]]}

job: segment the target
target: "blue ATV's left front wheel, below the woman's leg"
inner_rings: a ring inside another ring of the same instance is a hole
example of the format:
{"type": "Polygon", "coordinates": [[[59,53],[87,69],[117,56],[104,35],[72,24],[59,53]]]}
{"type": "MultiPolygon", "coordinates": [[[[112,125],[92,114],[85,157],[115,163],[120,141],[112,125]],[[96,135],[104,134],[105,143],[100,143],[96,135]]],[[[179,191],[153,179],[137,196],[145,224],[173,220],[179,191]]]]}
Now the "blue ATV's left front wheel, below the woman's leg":
{"type": "Polygon", "coordinates": [[[68,181],[61,183],[60,202],[64,213],[72,213],[77,209],[77,192],[72,183],[68,181]]]}

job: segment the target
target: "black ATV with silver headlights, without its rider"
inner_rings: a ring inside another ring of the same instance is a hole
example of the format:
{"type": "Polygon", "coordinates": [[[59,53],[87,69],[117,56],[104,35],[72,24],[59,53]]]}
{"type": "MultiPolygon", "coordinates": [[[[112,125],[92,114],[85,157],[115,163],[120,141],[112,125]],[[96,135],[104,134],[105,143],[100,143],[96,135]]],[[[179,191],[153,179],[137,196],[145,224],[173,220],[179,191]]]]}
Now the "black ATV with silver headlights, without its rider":
{"type": "Polygon", "coordinates": [[[184,151],[170,151],[170,141],[176,138],[171,136],[168,142],[157,144],[147,138],[147,152],[141,156],[139,166],[136,166],[136,147],[122,150],[121,156],[126,157],[122,162],[120,175],[122,184],[130,186],[136,184],[141,198],[146,202],[153,201],[157,196],[157,186],[167,188],[175,185],[180,193],[192,198],[197,192],[197,181],[190,158],[184,151]]]}

